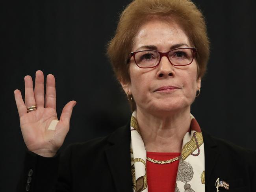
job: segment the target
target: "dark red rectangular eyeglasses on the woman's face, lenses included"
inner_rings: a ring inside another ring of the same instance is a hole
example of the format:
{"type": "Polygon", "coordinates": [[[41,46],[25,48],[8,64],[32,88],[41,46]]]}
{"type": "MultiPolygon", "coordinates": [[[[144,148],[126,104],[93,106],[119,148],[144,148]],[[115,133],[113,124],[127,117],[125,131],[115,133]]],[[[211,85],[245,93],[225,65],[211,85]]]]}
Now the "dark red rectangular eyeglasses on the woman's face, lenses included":
{"type": "Polygon", "coordinates": [[[159,65],[163,56],[167,57],[174,66],[190,65],[197,53],[197,48],[186,47],[176,48],[169,52],[162,53],[155,50],[136,51],[130,54],[139,68],[153,68],[159,65]]]}

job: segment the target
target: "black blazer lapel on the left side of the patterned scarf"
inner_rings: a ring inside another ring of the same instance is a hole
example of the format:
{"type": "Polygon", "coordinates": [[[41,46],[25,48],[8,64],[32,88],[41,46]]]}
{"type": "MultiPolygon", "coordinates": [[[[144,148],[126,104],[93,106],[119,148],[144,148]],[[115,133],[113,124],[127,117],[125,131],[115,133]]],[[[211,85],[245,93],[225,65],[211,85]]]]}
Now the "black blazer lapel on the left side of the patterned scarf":
{"type": "Polygon", "coordinates": [[[114,132],[108,141],[111,146],[105,152],[115,187],[118,192],[131,192],[130,124],[114,132]]]}

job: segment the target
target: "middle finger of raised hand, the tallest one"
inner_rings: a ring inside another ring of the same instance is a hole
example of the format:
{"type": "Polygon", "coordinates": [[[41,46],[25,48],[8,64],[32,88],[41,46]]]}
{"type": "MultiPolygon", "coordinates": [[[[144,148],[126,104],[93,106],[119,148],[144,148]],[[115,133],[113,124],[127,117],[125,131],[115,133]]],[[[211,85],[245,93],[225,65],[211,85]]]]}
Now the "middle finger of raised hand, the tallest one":
{"type": "Polygon", "coordinates": [[[35,72],[35,102],[37,107],[45,107],[45,86],[44,86],[44,74],[38,70],[35,72]]]}

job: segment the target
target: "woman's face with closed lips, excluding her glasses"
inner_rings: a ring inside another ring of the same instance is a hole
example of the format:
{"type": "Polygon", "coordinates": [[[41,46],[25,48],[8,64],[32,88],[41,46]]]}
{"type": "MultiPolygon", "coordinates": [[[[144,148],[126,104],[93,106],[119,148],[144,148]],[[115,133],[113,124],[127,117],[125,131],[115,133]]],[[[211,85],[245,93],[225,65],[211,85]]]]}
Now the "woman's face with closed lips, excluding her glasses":
{"type": "MultiPolygon", "coordinates": [[[[177,44],[191,47],[184,31],[173,22],[151,20],[143,26],[135,37],[132,52],[152,50],[168,52],[177,44]]],[[[137,110],[152,114],[169,114],[180,110],[190,110],[201,79],[197,79],[195,59],[187,66],[173,66],[162,57],[155,68],[139,68],[130,59],[130,83],[121,83],[125,92],[132,94],[137,110]]]]}

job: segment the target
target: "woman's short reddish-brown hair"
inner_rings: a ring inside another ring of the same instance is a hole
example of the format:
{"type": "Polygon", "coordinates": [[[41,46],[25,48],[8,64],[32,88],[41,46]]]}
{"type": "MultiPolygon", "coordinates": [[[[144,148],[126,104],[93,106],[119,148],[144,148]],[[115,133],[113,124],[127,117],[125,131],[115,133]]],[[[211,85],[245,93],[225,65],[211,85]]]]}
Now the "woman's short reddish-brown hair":
{"type": "MultiPolygon", "coordinates": [[[[130,82],[127,61],[134,38],[140,26],[152,17],[174,21],[185,31],[191,44],[197,48],[197,78],[202,78],[210,55],[210,42],[204,17],[195,4],[190,0],[134,0],[122,11],[115,35],[107,48],[117,79],[130,82]]],[[[135,102],[131,105],[135,110],[135,102]]]]}

